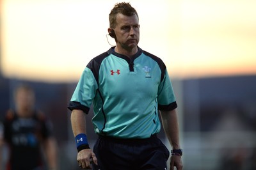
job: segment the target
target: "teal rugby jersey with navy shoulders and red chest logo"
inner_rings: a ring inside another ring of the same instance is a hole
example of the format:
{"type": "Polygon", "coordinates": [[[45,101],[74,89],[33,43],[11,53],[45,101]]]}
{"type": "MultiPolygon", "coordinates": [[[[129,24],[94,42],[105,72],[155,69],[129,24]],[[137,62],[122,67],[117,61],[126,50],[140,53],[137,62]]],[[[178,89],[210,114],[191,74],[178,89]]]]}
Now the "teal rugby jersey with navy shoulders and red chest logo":
{"type": "Polygon", "coordinates": [[[138,48],[128,58],[114,47],[84,69],[68,109],[86,114],[93,104],[95,132],[120,138],[148,138],[160,131],[158,110],[177,107],[163,61],[138,48]]]}

